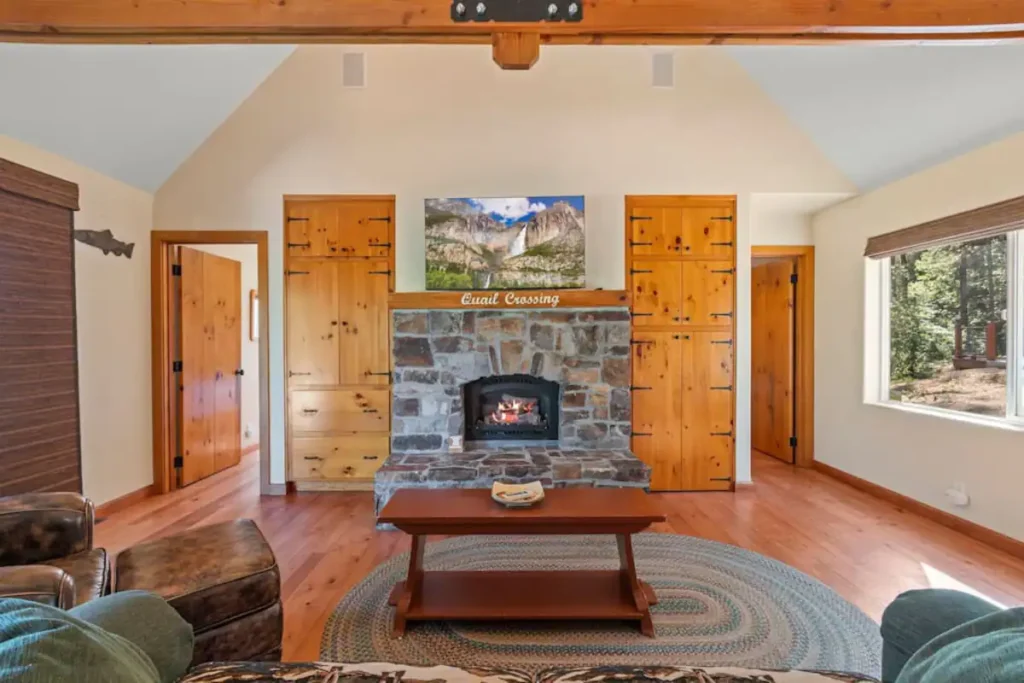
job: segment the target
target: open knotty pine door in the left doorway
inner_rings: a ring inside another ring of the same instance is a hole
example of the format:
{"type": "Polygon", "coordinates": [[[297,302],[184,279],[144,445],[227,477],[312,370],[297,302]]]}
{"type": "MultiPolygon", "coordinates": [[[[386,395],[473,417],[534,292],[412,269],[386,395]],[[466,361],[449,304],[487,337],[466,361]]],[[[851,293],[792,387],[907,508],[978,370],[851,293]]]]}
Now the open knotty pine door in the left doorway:
{"type": "Polygon", "coordinates": [[[180,484],[242,457],[242,264],[179,248],[180,484]]]}

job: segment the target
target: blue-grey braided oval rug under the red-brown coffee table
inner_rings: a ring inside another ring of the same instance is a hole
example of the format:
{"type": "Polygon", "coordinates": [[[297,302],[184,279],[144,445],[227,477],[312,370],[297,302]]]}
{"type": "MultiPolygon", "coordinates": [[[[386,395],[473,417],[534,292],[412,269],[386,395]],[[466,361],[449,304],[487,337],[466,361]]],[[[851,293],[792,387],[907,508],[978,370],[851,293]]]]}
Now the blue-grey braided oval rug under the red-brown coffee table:
{"type": "MultiPolygon", "coordinates": [[[[607,623],[411,623],[391,637],[394,584],[409,555],[384,562],[335,608],[325,661],[417,666],[692,665],[810,669],[878,677],[882,642],[866,614],[821,582],[758,553],[670,533],[634,537],[637,569],[657,594],[656,638],[607,623]]],[[[428,542],[429,569],[614,569],[613,537],[494,536],[428,542]]]]}

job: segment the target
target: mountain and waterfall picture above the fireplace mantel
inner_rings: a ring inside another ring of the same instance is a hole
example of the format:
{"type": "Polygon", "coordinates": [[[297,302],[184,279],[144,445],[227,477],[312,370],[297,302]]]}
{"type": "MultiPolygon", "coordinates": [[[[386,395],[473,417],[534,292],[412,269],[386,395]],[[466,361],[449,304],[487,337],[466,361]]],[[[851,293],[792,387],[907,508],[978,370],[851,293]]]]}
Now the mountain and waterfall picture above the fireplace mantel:
{"type": "Polygon", "coordinates": [[[428,290],[584,286],[583,197],[425,204],[428,290]]]}

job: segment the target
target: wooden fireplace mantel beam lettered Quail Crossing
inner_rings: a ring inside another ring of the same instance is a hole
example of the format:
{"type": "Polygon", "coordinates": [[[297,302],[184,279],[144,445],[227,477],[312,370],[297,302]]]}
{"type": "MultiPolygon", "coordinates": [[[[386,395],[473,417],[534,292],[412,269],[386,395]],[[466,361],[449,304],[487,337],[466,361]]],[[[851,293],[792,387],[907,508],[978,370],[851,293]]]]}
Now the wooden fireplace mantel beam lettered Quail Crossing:
{"type": "Polygon", "coordinates": [[[626,290],[483,290],[392,292],[389,308],[590,308],[628,306],[626,290]]]}

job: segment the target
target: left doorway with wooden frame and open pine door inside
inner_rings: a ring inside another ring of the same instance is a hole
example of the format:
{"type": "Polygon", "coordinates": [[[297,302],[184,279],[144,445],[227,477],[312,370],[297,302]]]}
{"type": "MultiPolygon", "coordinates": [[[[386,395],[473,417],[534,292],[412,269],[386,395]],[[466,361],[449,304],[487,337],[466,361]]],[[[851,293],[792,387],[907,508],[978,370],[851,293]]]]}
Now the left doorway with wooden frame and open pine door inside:
{"type": "Polygon", "coordinates": [[[189,485],[259,451],[269,490],[265,232],[154,232],[154,480],[189,485]]]}

